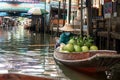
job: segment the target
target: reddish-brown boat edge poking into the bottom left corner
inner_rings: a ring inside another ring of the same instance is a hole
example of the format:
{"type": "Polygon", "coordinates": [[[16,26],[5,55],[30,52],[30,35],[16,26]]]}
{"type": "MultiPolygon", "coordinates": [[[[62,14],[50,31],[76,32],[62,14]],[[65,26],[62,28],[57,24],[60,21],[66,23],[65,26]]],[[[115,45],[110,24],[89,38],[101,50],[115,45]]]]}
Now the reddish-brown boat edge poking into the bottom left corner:
{"type": "Polygon", "coordinates": [[[45,77],[39,77],[39,76],[30,76],[30,75],[24,75],[24,74],[15,74],[15,73],[9,73],[9,74],[0,74],[0,80],[54,80],[50,78],[45,77]]]}

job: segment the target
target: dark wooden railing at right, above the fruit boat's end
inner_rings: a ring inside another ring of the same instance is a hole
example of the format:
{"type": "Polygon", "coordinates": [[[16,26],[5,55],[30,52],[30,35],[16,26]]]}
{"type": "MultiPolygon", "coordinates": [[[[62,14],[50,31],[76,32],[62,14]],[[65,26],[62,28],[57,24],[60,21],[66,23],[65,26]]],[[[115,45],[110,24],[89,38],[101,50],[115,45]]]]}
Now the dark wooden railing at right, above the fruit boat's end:
{"type": "Polygon", "coordinates": [[[120,44],[120,17],[94,20],[93,35],[100,49],[112,49],[119,51],[120,44]]]}

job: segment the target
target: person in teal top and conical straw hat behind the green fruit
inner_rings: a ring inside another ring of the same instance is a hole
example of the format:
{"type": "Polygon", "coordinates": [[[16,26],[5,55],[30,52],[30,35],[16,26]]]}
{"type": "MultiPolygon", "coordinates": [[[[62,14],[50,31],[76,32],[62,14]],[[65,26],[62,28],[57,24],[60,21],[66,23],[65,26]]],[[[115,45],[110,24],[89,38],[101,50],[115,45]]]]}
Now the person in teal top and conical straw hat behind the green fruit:
{"type": "Polygon", "coordinates": [[[64,27],[59,28],[59,29],[63,32],[60,34],[60,37],[55,37],[56,39],[55,48],[60,46],[60,44],[67,44],[70,38],[74,36],[74,34],[72,33],[74,29],[71,26],[71,24],[66,23],[64,27]]]}

